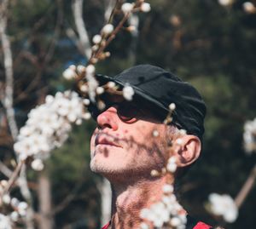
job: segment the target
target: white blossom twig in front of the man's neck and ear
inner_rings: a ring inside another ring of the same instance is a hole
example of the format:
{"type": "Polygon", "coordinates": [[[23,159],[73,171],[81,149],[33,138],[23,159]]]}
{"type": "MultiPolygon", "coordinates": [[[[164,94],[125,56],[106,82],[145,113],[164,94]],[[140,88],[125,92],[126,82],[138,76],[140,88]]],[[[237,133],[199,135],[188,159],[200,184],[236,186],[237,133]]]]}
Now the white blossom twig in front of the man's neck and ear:
{"type": "MultiPolygon", "coordinates": [[[[172,112],[176,109],[174,103],[169,106],[169,113],[166,117],[164,123],[168,124],[172,122],[172,112]]],[[[153,131],[153,136],[158,137],[159,133],[157,130],[153,131]]],[[[186,135],[184,129],[177,130],[177,139],[173,141],[172,152],[178,152],[180,147],[183,145],[182,136],[186,135]]],[[[161,176],[171,174],[173,175],[177,170],[176,157],[171,156],[168,158],[166,167],[160,172],[157,170],[152,170],[152,176],[161,176]]],[[[150,221],[154,228],[176,228],[183,229],[186,228],[187,217],[183,207],[177,202],[177,198],[174,194],[174,187],[172,182],[166,182],[166,185],[162,187],[163,196],[159,202],[154,203],[149,209],[143,209],[141,211],[141,218],[143,220],[150,221]]],[[[140,225],[140,229],[148,229],[150,226],[146,222],[140,225]]]]}

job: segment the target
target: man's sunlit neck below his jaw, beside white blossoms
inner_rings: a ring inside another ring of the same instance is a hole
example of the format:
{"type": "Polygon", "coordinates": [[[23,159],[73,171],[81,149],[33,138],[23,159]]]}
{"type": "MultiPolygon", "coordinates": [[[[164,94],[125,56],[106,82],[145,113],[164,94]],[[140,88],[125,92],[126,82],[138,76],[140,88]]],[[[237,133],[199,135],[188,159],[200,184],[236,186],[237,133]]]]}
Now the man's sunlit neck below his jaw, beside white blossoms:
{"type": "Polygon", "coordinates": [[[162,186],[165,184],[166,177],[164,176],[132,183],[113,183],[111,228],[139,228],[142,223],[141,210],[160,201],[163,194],[162,186]]]}

